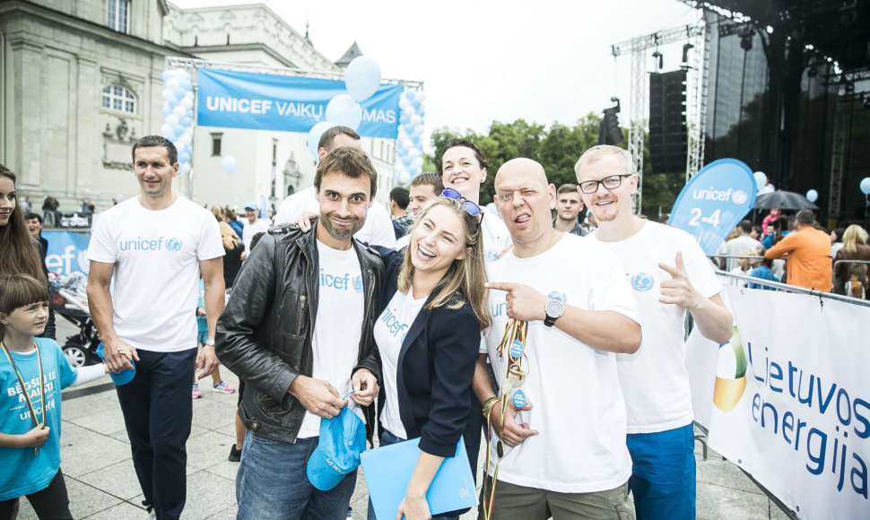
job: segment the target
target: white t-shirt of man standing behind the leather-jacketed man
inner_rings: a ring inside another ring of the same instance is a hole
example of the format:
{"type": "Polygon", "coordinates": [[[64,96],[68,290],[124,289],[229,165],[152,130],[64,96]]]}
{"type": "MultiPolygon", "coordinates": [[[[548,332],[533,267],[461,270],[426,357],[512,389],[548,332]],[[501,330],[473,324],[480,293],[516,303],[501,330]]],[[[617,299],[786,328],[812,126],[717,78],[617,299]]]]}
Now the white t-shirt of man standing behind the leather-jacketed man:
{"type": "MultiPolygon", "coordinates": [[[[319,212],[320,204],[314,186],[310,186],[284,199],[278,206],[278,212],[275,213],[274,225],[293,224],[305,213],[318,214],[319,212]]],[[[353,234],[353,238],[371,246],[396,248],[396,232],[393,230],[393,221],[390,220],[384,204],[378,201],[371,204],[369,211],[366,212],[366,221],[362,224],[361,230],[353,234]]]]}

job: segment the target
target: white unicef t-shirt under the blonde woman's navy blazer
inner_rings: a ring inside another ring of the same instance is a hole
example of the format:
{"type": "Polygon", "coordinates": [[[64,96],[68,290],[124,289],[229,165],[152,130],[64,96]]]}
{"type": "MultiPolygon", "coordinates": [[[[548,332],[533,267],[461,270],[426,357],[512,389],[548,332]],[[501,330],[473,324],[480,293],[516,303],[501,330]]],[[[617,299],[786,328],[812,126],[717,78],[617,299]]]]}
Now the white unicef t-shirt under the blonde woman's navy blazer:
{"type": "Polygon", "coordinates": [[[375,342],[378,343],[383,385],[387,390],[387,403],[380,415],[380,423],[398,438],[408,438],[399,414],[399,394],[396,386],[399,351],[402,350],[402,342],[405,342],[405,335],[408,334],[413,320],[426,303],[426,298],[414,299],[413,290],[409,290],[408,294],[396,290],[393,299],[390,299],[375,324],[375,342]]]}

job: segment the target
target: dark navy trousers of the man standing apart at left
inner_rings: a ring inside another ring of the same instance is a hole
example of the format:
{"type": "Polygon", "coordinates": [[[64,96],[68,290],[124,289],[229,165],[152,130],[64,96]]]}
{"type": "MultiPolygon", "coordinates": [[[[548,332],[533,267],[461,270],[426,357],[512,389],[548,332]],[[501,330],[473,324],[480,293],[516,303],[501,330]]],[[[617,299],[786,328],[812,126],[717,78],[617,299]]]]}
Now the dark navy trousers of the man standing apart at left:
{"type": "Polygon", "coordinates": [[[190,375],[196,349],[139,350],[136,375],[116,386],[133,467],[144,495],[161,520],[178,518],[187,498],[187,438],[193,419],[190,375]]]}

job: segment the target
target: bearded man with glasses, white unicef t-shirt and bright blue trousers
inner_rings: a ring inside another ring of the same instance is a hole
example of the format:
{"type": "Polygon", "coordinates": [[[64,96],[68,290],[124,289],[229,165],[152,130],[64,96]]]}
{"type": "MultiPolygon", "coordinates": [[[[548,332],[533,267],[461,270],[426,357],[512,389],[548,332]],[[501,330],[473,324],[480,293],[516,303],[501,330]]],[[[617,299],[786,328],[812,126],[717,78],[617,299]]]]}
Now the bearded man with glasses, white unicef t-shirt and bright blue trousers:
{"type": "Polygon", "coordinates": [[[632,164],[629,152],[599,145],[580,156],[575,171],[583,202],[598,221],[590,241],[622,260],[643,327],[636,359],[619,363],[635,509],[639,519],[689,519],[695,516],[695,458],[685,313],[718,343],[731,338],[732,317],[695,239],[632,214],[639,180],[632,164]]]}

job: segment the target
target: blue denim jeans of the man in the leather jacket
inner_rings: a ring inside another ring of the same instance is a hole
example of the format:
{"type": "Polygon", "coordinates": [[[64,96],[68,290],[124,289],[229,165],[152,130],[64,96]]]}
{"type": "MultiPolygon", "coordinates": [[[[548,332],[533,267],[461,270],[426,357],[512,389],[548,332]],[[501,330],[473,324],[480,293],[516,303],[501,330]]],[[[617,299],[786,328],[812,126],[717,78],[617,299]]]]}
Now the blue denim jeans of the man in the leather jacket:
{"type": "Polygon", "coordinates": [[[318,439],[300,438],[291,444],[248,429],[236,474],[236,519],[344,520],[356,486],[356,471],[332,490],[312,486],[305,467],[318,439]]]}

